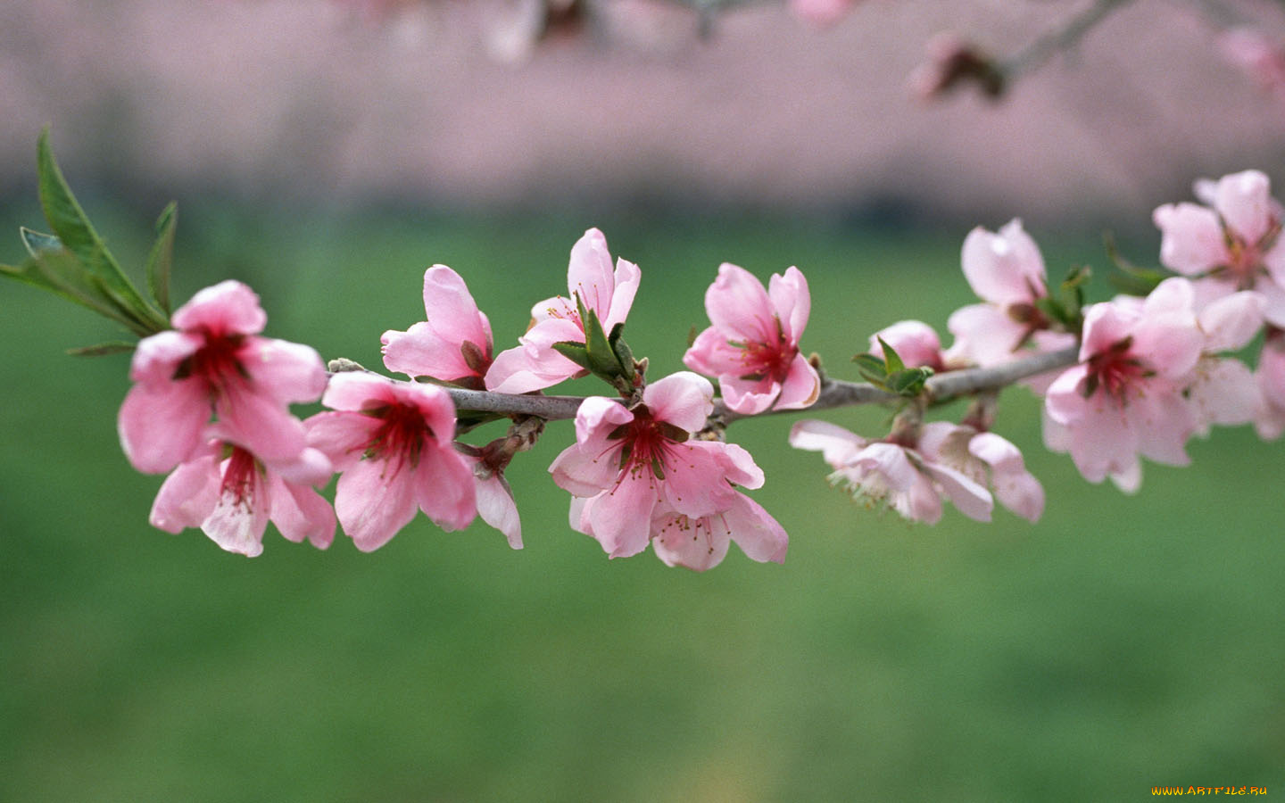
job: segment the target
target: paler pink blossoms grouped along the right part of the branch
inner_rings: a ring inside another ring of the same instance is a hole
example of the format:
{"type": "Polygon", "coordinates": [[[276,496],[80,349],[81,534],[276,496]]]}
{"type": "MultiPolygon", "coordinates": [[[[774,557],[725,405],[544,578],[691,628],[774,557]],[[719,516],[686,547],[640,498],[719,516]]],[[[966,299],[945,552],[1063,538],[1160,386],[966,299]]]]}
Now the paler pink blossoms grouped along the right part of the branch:
{"type": "MultiPolygon", "coordinates": [[[[929,325],[902,321],[871,337],[871,353],[882,355],[887,344],[907,366],[946,373],[1073,348],[1074,365],[1025,382],[1043,396],[1045,445],[1069,452],[1090,482],[1110,478],[1126,492],[1141,483],[1141,457],[1186,465],[1186,442],[1213,424],[1254,423],[1263,438],[1279,437],[1285,430],[1281,206],[1258,171],[1200,181],[1196,197],[1204,206],[1155,211],[1160,262],[1178,275],[1145,297],[1121,296],[1086,307],[1082,319],[1069,315],[1050,298],[1038,247],[1013,221],[965,239],[964,275],[986,303],[951,315],[951,348],[942,349],[929,325]],[[1257,373],[1228,356],[1263,331],[1257,373]]],[[[911,420],[882,441],[801,421],[790,442],[822,452],[835,482],[907,518],[935,522],[946,497],[987,520],[989,486],[1001,504],[1034,520],[1043,491],[1016,447],[986,432],[988,418],[986,405],[977,405],[959,425],[911,420]]]]}

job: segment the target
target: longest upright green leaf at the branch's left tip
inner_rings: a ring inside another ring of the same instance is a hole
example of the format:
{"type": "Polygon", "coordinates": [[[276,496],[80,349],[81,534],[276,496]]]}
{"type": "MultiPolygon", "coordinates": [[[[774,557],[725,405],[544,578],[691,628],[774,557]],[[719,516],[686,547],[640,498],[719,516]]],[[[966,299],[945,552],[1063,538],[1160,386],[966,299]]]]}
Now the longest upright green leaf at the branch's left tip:
{"type": "Polygon", "coordinates": [[[49,221],[49,227],[54,230],[63,248],[80,260],[81,271],[86,274],[77,284],[94,288],[105,303],[118,307],[121,316],[143,325],[148,329],[148,334],[168,329],[168,320],[139,294],[121,271],[116,257],[107,249],[71,188],[67,186],[67,180],[63,179],[49,146],[49,128],[40,134],[36,167],[40,206],[45,212],[45,220],[49,221]]]}

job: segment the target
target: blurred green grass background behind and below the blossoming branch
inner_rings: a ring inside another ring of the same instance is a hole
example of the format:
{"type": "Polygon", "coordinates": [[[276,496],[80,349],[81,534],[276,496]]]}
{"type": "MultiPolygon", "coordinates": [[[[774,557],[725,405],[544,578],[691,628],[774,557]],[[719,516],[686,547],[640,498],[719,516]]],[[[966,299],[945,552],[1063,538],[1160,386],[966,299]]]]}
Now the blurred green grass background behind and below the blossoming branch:
{"type": "MultiPolygon", "coordinates": [[[[122,261],[141,263],[159,206],[87,200],[122,261]]],[[[40,222],[33,202],[0,217],[0,231],[40,222]]],[[[564,289],[587,225],[642,267],[627,334],[653,378],[705,325],[721,261],[763,279],[798,265],[813,302],[804,347],[846,378],[875,329],[912,316],[944,329],[973,301],[962,227],[217,203],[180,209],[175,296],[242,279],[267,334],[379,366],[379,334],[423,317],[423,270],[442,262],[504,348],[533,301],[564,289]]],[[[1033,234],[1054,275],[1103,263],[1092,235],[1033,234]]],[[[5,243],[0,260],[17,260],[17,238],[5,243]]],[[[118,333],[12,283],[0,310],[3,800],[1104,800],[1285,786],[1285,450],[1246,428],[1192,443],[1192,468],[1148,465],[1126,497],[1045,452],[1038,402],[1011,389],[998,429],[1045,483],[1043,520],[947,509],[923,527],[828,487],[820,457],[785,445],[801,416],[739,423],[730,434],[767,474],[753,496],[789,531],[789,558],[759,565],[734,547],[695,574],[649,552],[609,561],[568,528],[546,473],[572,437],[563,423],[509,472],[523,551],[482,523],[442,533],[420,516],[370,555],[270,529],[247,560],[146,524],[162,478],[134,473],[114,434],[127,357],[63,353],[118,333]]],[[[887,414],[825,418],[876,436],[887,414]]]]}

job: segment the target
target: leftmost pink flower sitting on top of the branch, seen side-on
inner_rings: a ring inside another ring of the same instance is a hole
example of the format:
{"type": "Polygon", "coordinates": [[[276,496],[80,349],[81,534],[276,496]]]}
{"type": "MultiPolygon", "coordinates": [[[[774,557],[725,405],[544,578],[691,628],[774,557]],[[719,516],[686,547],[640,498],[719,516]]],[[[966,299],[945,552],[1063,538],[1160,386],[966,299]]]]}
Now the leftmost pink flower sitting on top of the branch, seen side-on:
{"type": "Polygon", "coordinates": [[[468,285],[445,265],[424,271],[424,321],[379,338],[384,366],[410,376],[429,376],[474,391],[486,388],[491,367],[491,322],[468,285]]]}

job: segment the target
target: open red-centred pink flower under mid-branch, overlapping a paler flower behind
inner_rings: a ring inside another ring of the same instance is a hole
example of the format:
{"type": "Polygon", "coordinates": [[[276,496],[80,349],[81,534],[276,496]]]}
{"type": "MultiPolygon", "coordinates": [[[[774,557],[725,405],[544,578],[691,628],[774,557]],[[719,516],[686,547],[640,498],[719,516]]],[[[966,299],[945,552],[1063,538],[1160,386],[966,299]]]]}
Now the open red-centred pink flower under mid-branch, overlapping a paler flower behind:
{"type": "Polygon", "coordinates": [[[739,446],[691,438],[712,411],[713,387],[687,371],[649,384],[632,410],[586,398],[576,443],[549,466],[560,488],[589,500],[585,523],[572,525],[621,558],[646,549],[658,511],[698,519],[738,506],[732,483],[758,488],[763,472],[739,446]]]}

